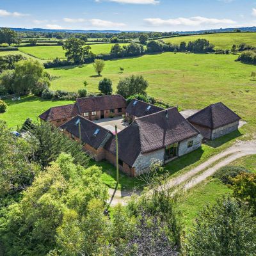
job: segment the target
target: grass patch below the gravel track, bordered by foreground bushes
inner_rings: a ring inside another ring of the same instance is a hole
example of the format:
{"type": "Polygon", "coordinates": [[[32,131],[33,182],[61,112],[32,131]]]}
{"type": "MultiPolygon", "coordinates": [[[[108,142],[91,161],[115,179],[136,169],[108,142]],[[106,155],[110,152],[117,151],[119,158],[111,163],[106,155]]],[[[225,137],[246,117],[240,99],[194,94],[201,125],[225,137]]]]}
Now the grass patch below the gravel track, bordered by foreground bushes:
{"type": "Polygon", "coordinates": [[[205,204],[213,205],[218,198],[231,193],[232,189],[212,177],[188,191],[188,194],[184,196],[178,205],[180,221],[185,231],[189,232],[193,228],[195,218],[198,212],[203,211],[205,204]]]}

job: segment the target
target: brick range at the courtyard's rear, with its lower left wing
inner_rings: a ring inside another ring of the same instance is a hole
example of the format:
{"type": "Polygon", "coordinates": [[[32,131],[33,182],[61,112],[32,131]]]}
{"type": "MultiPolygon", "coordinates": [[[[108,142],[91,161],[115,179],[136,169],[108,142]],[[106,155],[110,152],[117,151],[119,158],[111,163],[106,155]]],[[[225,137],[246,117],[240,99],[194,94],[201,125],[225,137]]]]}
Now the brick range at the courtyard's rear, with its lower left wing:
{"type": "Polygon", "coordinates": [[[88,120],[98,120],[125,114],[126,100],[121,95],[104,95],[76,99],[76,103],[50,108],[39,116],[42,122],[59,127],[67,120],[81,115],[88,120]]]}

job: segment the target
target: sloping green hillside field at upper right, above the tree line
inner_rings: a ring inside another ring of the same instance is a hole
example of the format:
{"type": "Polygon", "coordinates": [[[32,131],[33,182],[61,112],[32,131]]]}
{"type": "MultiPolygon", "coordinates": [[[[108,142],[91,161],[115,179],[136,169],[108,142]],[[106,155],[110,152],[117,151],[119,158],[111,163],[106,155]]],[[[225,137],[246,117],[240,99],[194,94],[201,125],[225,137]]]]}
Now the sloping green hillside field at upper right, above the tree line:
{"type": "Polygon", "coordinates": [[[172,44],[180,44],[184,41],[195,41],[198,38],[209,40],[211,44],[215,45],[215,48],[219,49],[231,49],[233,44],[239,45],[246,43],[256,47],[256,33],[216,33],[210,35],[195,35],[195,36],[177,36],[173,38],[164,38],[164,42],[170,42],[172,44]]]}

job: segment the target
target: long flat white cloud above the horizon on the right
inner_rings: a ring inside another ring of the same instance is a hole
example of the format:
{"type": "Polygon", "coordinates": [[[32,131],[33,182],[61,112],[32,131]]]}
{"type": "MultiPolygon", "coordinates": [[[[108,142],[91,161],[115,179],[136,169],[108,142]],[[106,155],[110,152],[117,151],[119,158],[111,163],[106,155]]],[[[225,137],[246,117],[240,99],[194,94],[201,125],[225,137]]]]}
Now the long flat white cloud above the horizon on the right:
{"type": "Polygon", "coordinates": [[[221,25],[221,24],[236,24],[234,20],[230,19],[209,19],[205,17],[191,17],[191,18],[177,18],[177,19],[160,19],[149,18],[144,19],[150,26],[200,26],[200,25],[221,25]]]}

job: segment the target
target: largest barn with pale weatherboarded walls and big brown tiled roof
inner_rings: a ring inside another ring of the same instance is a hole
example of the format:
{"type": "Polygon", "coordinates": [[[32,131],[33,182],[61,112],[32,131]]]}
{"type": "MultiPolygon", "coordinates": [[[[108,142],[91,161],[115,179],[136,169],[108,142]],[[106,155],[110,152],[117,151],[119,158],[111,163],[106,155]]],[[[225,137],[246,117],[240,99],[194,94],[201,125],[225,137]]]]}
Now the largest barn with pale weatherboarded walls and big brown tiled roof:
{"type": "MultiPolygon", "coordinates": [[[[176,157],[196,150],[202,145],[202,135],[170,108],[136,118],[131,125],[118,133],[120,170],[131,177],[146,172],[152,161],[167,163],[176,157]]],[[[106,159],[115,162],[115,136],[106,143],[106,159]]]]}

